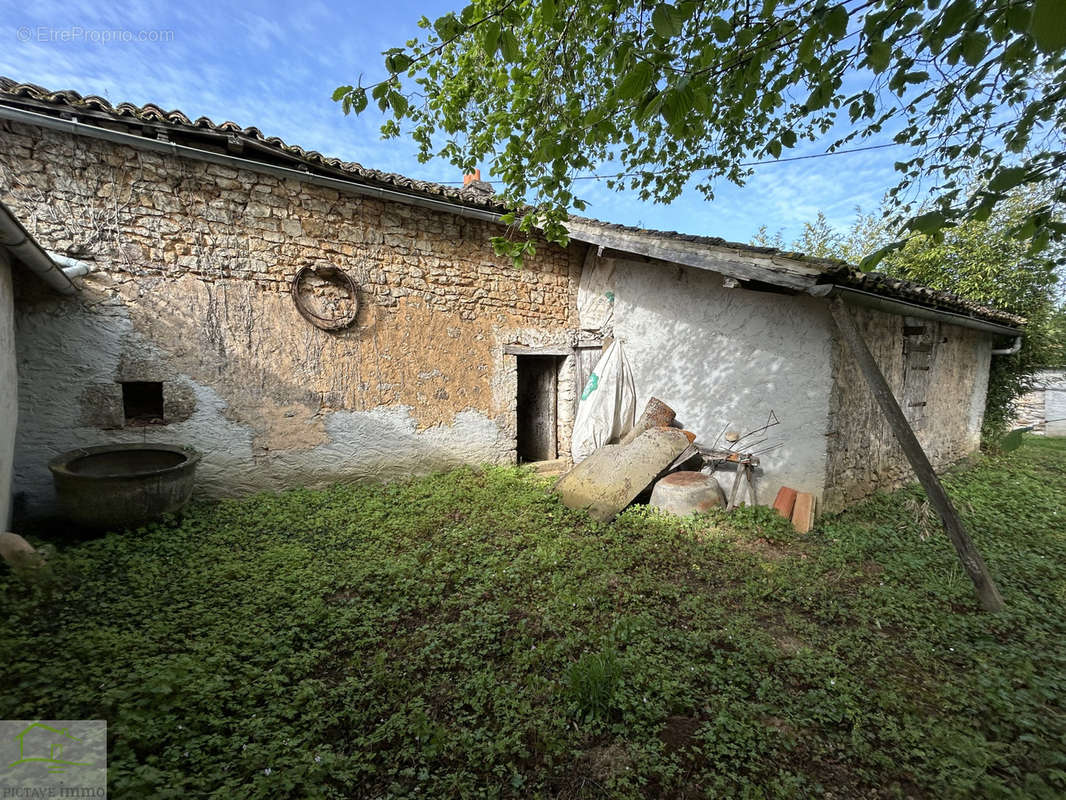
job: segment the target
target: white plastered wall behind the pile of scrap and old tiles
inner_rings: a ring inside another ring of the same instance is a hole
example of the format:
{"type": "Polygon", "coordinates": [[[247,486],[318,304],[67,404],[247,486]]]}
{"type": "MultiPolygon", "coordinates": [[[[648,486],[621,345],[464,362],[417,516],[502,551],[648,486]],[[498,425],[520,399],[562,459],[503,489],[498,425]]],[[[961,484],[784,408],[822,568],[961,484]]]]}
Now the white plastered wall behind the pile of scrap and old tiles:
{"type": "MultiPolygon", "coordinates": [[[[772,503],[782,485],[820,495],[830,386],[824,304],[726,289],[722,275],[684,267],[618,261],[614,277],[615,336],[637,407],[658,397],[708,445],[725,430],[761,427],[773,410],[781,425],[761,447],[782,446],[762,457],[759,501],[772,503]]],[[[728,492],[733,474],[718,477],[728,492]]]]}

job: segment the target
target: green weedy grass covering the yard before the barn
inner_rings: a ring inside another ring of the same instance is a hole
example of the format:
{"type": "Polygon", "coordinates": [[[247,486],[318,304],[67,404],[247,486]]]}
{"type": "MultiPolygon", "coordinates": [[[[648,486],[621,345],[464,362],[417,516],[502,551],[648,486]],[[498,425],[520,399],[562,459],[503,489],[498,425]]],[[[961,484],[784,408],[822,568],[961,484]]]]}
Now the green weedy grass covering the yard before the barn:
{"type": "Polygon", "coordinates": [[[611,525],[517,469],[200,505],[0,574],[5,719],[107,719],[116,797],[1066,794],[1066,441],[922,495],[611,525]]]}

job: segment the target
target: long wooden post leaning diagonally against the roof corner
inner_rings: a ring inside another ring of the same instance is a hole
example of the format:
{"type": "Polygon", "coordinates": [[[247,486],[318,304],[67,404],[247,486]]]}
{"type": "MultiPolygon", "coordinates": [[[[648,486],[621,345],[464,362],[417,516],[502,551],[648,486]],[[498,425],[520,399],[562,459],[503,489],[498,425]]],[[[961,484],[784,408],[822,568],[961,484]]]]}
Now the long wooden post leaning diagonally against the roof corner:
{"type": "Polygon", "coordinates": [[[900,409],[900,404],[895,401],[888,381],[885,380],[881,367],[877,366],[877,362],[874,361],[870,348],[867,347],[858,325],[855,324],[855,318],[852,317],[851,311],[847,310],[847,306],[840,298],[831,298],[829,300],[829,309],[833,311],[833,319],[837,323],[837,330],[840,331],[844,343],[847,345],[847,349],[851,350],[852,355],[858,362],[874,399],[888,418],[888,425],[903,448],[907,461],[914,467],[915,474],[922,484],[922,489],[928,495],[930,502],[933,503],[933,508],[940,515],[940,521],[948,532],[948,538],[955,545],[958,559],[963,562],[963,566],[969,574],[970,580],[973,581],[974,589],[978,590],[981,606],[986,611],[1002,611],[1003,598],[1000,596],[991,575],[988,574],[985,560],[981,558],[981,554],[973,546],[973,542],[970,541],[969,534],[963,527],[963,522],[958,518],[958,512],[955,511],[955,507],[952,505],[947,492],[943,491],[940,479],[936,477],[933,465],[930,464],[930,460],[925,457],[925,451],[918,442],[918,437],[915,436],[915,432],[904,416],[903,410],[900,409]]]}

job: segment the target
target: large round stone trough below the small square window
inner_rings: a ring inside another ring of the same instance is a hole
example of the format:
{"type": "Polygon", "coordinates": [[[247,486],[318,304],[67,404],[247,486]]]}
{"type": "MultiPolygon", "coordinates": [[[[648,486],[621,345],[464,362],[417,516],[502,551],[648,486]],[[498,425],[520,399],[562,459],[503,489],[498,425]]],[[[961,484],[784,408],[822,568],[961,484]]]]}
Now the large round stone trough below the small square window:
{"type": "Polygon", "coordinates": [[[200,457],[180,445],[101,445],[48,468],[63,512],[87,528],[131,528],[189,501],[200,457]]]}

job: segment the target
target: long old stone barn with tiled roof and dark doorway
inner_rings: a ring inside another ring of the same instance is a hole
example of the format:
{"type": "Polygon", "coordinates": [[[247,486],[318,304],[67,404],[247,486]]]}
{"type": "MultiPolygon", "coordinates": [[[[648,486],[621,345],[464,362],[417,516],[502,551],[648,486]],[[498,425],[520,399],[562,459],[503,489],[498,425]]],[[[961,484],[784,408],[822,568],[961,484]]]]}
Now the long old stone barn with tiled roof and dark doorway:
{"type": "Polygon", "coordinates": [[[1023,323],[839,262],[585,219],[515,269],[489,244],[508,209],[479,179],[9,79],[0,201],[77,289],[0,281],[0,400],[18,407],[0,459],[25,515],[52,508],[49,459],[107,443],[197,449],[207,496],[565,462],[607,341],[637,405],[668,403],[697,441],[773,415],[760,501],[788,485],[831,511],[912,474],[830,301],[937,467],[976,449],[990,359],[1023,323]]]}

